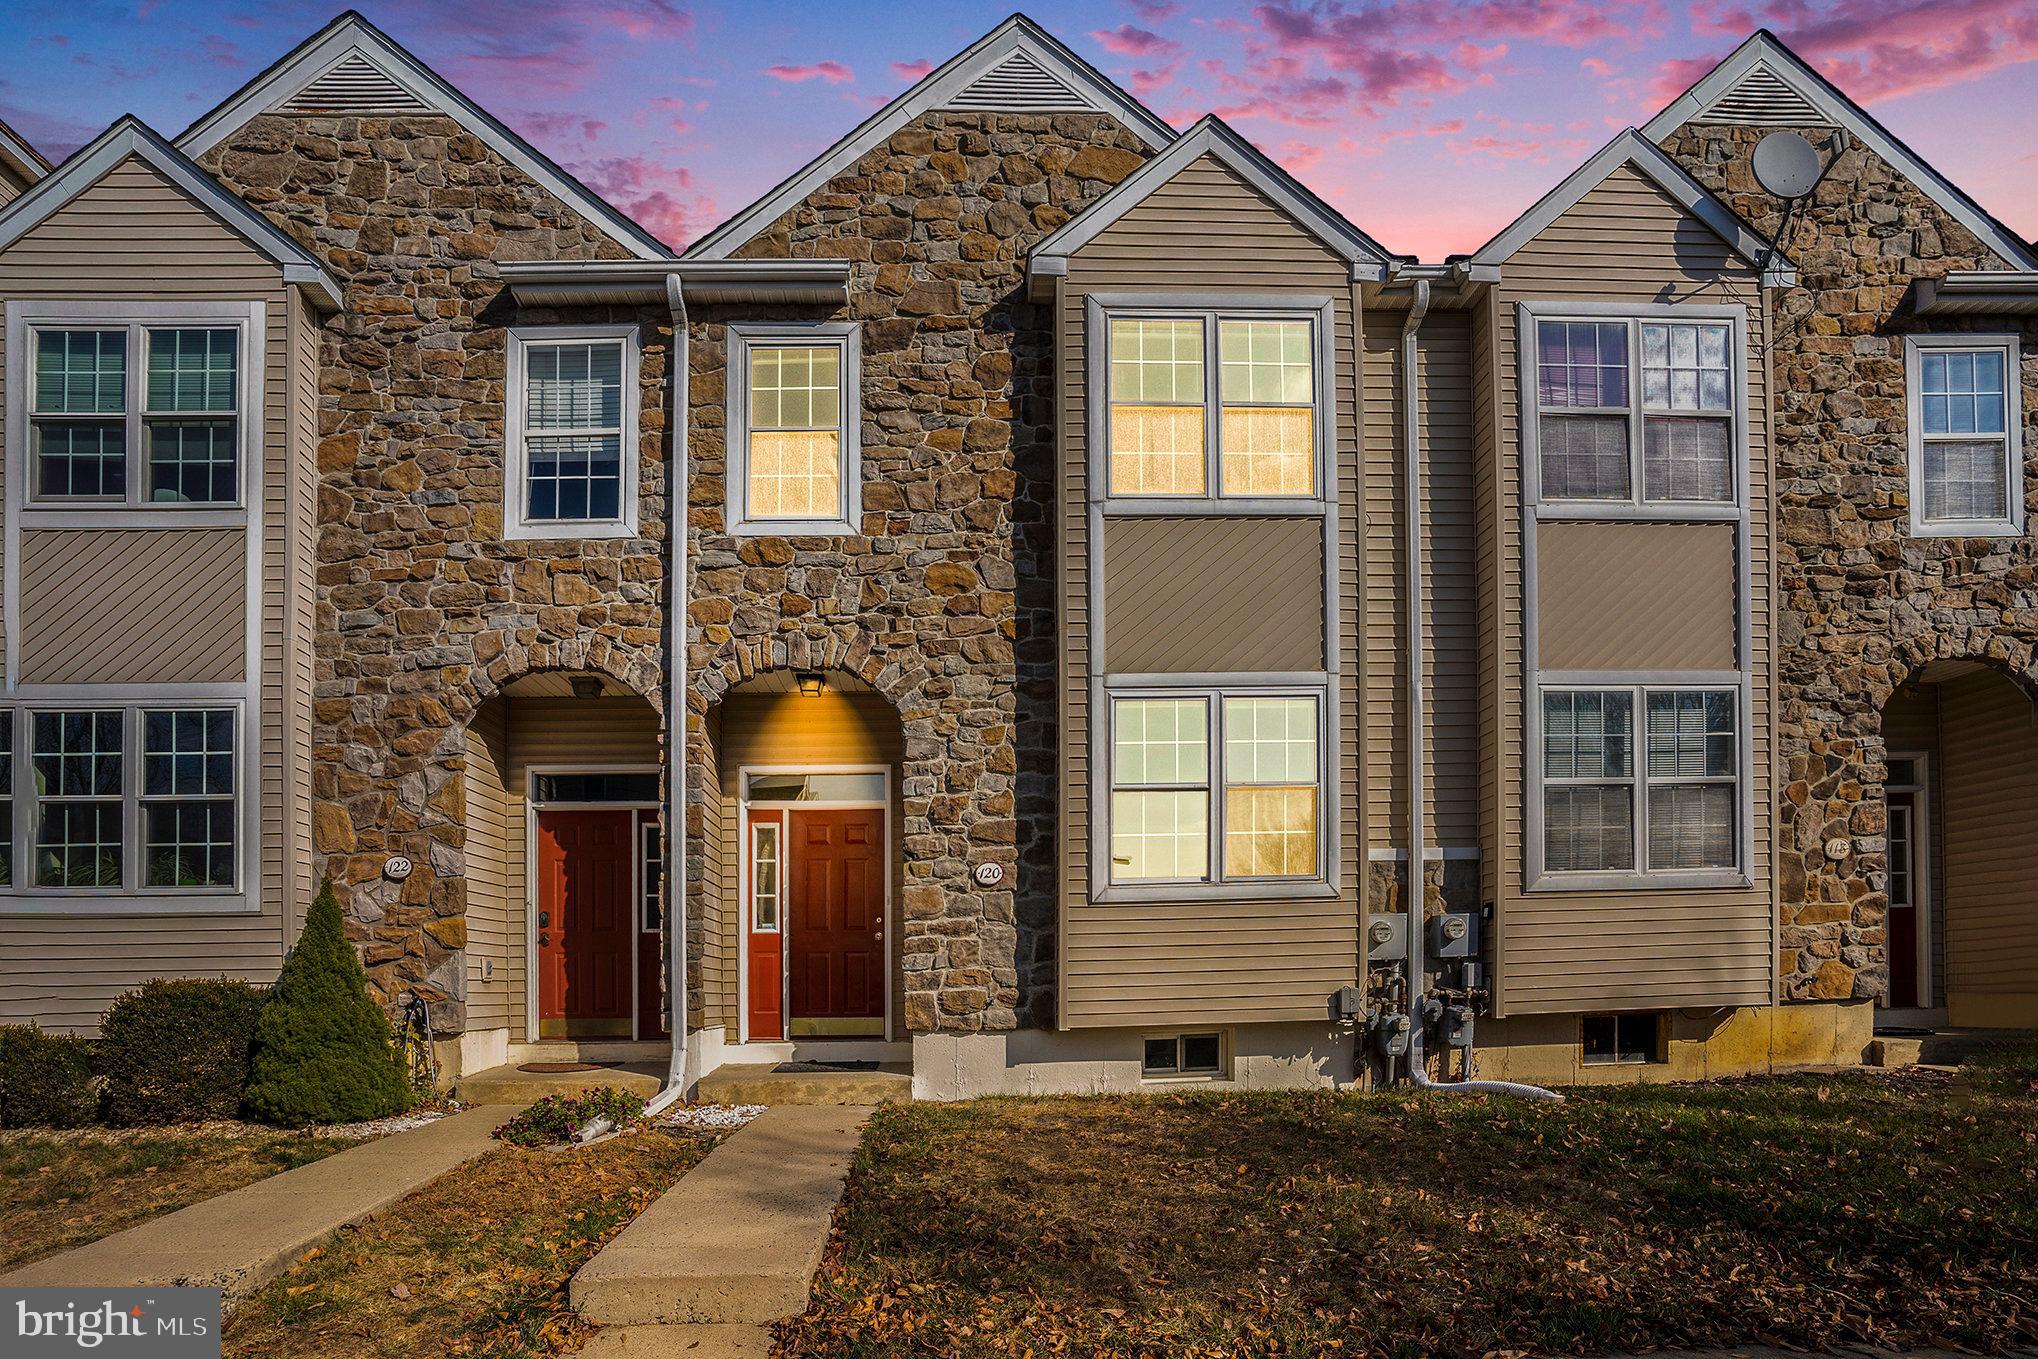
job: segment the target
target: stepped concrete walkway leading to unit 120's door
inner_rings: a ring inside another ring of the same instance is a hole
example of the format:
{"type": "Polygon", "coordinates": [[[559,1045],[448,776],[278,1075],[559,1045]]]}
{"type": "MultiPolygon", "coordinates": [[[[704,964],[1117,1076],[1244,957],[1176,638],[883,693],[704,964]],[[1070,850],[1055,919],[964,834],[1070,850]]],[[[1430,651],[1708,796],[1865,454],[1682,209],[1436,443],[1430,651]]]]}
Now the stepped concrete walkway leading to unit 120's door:
{"type": "Polygon", "coordinates": [[[868,1106],[766,1108],[573,1275],[591,1359],[746,1359],[805,1310],[868,1106]]]}

